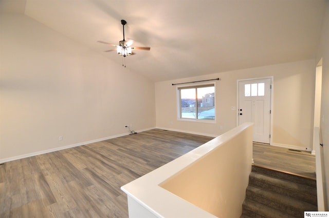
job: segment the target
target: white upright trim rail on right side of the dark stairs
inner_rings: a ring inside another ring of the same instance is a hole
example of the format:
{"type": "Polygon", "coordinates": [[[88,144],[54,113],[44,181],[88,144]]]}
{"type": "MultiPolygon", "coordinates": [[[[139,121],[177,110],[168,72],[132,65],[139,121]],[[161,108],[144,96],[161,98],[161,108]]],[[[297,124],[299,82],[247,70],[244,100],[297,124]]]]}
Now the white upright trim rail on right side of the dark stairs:
{"type": "Polygon", "coordinates": [[[315,144],[315,164],[316,164],[316,179],[317,179],[317,198],[318,211],[324,211],[324,173],[323,173],[323,148],[320,145],[319,127],[314,127],[314,144],[315,144]]]}

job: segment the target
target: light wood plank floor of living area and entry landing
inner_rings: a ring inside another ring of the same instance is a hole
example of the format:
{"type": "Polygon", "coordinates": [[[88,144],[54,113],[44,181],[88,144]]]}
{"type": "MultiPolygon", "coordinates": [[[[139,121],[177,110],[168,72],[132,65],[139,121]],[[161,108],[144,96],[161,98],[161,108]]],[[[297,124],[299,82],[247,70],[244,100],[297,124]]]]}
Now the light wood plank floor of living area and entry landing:
{"type": "MultiPolygon", "coordinates": [[[[122,185],[211,139],[154,129],[5,163],[0,217],[128,217],[122,185]]],[[[254,145],[255,163],[284,165],[276,161],[284,152],[272,149],[254,145]]]]}

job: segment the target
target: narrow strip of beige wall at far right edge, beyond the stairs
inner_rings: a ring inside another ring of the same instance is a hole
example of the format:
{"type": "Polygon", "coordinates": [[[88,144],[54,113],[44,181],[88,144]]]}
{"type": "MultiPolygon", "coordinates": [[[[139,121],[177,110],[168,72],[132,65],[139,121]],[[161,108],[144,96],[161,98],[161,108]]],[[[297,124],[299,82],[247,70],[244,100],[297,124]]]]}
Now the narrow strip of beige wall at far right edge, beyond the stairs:
{"type": "Polygon", "coordinates": [[[320,116],[320,143],[323,144],[325,203],[329,209],[329,1],[326,1],[323,29],[317,52],[317,61],[322,60],[322,93],[320,116]]]}

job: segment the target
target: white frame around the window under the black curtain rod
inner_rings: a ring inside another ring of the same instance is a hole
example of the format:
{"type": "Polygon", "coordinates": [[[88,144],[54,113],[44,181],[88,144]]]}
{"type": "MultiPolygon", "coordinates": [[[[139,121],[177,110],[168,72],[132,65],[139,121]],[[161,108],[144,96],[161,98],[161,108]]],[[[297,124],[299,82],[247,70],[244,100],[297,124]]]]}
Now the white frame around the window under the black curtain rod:
{"type": "Polygon", "coordinates": [[[216,110],[216,83],[203,83],[203,84],[198,84],[198,85],[185,85],[185,86],[177,86],[176,88],[176,93],[177,93],[177,121],[187,121],[187,122],[195,122],[195,123],[211,123],[211,124],[216,124],[216,117],[217,117],[217,110],[216,110]],[[193,119],[193,118],[181,118],[181,100],[180,100],[180,89],[182,88],[198,88],[198,87],[203,87],[203,86],[213,86],[214,87],[214,107],[215,107],[215,118],[214,120],[206,120],[206,119],[193,119]]]}

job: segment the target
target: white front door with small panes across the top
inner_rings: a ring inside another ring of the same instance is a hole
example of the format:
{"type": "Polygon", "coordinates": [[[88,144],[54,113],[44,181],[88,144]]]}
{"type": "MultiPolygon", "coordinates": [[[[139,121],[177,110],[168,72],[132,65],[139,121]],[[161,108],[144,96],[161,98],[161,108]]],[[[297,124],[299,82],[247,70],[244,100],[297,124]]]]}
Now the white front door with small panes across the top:
{"type": "Polygon", "coordinates": [[[252,122],[253,141],[270,143],[271,78],[239,81],[239,125],[252,122]]]}

